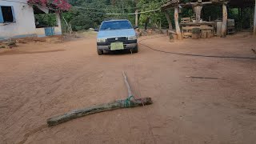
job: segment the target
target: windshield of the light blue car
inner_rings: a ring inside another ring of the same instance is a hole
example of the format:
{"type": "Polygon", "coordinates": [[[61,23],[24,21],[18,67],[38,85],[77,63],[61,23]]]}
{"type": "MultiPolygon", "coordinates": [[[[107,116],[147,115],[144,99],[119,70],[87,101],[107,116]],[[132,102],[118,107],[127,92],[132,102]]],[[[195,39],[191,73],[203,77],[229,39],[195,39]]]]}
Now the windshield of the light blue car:
{"type": "Polygon", "coordinates": [[[112,21],[103,22],[100,30],[122,30],[122,29],[132,29],[129,21],[112,21]]]}

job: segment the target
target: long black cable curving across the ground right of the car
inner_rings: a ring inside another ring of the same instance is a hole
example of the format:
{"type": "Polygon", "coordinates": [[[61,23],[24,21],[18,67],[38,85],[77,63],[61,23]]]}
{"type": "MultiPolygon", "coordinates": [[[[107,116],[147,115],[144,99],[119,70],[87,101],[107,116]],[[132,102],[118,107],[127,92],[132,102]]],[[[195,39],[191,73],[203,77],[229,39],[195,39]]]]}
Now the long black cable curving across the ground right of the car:
{"type": "MultiPolygon", "coordinates": [[[[166,36],[158,36],[154,38],[161,38],[161,37],[166,37],[166,36]]],[[[146,41],[148,39],[153,39],[153,38],[145,38],[140,40],[138,43],[141,44],[142,46],[145,46],[146,48],[166,54],[177,54],[177,55],[183,55],[183,56],[192,56],[192,57],[205,57],[205,58],[238,58],[238,59],[251,59],[251,60],[256,60],[256,58],[252,57],[236,57],[236,56],[222,56],[222,55],[203,55],[203,54],[186,54],[186,53],[176,53],[176,52],[171,52],[171,51],[165,51],[165,50],[157,50],[153,47],[147,46],[142,43],[142,41],[146,41]]]]}

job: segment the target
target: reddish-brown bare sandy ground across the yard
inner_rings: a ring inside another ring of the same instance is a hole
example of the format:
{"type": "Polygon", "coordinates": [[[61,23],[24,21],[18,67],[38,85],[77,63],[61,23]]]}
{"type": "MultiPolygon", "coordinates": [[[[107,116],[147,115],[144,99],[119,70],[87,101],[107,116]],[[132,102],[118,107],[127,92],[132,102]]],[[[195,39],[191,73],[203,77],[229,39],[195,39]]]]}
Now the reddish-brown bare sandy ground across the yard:
{"type": "MultiPolygon", "coordinates": [[[[158,36],[142,43],[186,54],[255,57],[255,38],[170,43],[158,36]]],[[[183,56],[142,45],[138,54],[98,56],[94,38],[22,44],[0,53],[0,143],[254,143],[255,71],[254,59],[183,56]],[[151,97],[153,105],[46,126],[52,116],[126,98],[122,70],[135,96],[151,97]]]]}

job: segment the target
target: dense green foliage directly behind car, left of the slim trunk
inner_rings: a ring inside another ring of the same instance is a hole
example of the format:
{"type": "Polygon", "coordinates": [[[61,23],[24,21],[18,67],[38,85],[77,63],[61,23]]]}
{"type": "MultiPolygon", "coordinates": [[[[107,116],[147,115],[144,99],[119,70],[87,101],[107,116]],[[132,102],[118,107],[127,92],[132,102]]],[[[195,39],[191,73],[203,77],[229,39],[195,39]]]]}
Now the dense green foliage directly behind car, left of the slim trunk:
{"type": "Polygon", "coordinates": [[[70,11],[62,14],[69,22],[73,30],[87,30],[98,27],[103,20],[107,19],[129,19],[135,21],[134,15],[107,15],[106,13],[134,13],[136,6],[134,1],[111,1],[111,0],[70,0],[73,6],[70,11]],[[124,10],[122,10],[124,6],[124,10]],[[86,9],[93,8],[93,9],[86,9]],[[94,10],[97,9],[97,10],[94,10]],[[103,9],[103,10],[102,10],[103,9]]]}

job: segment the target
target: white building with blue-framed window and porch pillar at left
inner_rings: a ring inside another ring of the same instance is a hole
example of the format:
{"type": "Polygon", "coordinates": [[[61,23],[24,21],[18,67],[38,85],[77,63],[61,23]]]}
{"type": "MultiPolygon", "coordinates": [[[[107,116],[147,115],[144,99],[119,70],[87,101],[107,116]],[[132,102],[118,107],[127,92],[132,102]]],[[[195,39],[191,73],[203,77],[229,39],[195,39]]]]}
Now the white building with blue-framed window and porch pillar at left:
{"type": "MultiPolygon", "coordinates": [[[[47,13],[47,10],[43,11],[47,13]]],[[[56,18],[55,27],[36,28],[34,10],[27,4],[27,0],[0,0],[0,41],[62,34],[59,14],[56,14],[56,18]]]]}

